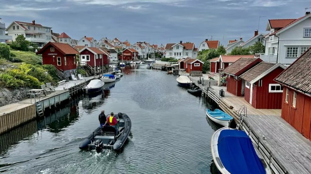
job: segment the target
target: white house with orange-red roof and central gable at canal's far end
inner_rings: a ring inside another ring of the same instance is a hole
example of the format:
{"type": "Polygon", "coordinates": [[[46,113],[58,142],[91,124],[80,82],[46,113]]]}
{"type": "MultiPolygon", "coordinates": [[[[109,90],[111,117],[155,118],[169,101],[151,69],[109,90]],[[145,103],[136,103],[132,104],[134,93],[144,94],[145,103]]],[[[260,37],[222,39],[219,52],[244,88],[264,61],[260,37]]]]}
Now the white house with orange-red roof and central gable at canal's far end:
{"type": "Polygon", "coordinates": [[[196,59],[197,48],[194,47],[194,43],[168,43],[165,45],[165,52],[167,58],[173,57],[174,59],[185,59],[187,57],[196,59]]]}

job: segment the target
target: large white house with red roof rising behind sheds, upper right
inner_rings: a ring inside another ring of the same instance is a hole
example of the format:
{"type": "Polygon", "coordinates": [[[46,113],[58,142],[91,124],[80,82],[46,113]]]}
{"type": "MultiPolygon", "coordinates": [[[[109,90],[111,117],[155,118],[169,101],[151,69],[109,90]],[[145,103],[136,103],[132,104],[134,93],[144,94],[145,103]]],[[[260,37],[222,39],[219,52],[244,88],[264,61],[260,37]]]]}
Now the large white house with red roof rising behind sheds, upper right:
{"type": "Polygon", "coordinates": [[[265,54],[260,59],[289,66],[311,46],[311,14],[298,19],[268,20],[265,54]]]}

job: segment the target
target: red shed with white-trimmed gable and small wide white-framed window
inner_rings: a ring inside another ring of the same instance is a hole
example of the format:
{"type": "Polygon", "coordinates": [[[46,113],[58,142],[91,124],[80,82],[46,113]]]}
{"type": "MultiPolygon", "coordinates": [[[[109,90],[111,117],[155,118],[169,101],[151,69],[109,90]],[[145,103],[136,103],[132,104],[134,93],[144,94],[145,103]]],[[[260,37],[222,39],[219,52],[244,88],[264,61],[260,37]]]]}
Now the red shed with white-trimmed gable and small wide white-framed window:
{"type": "Polygon", "coordinates": [[[261,62],[242,74],[244,99],[256,109],[281,109],[283,87],[274,79],[285,68],[281,63],[261,62]]]}

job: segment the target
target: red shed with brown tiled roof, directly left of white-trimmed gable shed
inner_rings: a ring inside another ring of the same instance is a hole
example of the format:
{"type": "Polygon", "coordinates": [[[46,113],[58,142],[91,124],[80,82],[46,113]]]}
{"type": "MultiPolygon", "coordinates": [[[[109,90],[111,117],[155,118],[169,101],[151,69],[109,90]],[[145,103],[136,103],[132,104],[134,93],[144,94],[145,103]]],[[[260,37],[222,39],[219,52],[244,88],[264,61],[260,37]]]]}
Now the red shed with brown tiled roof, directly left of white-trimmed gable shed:
{"type": "Polygon", "coordinates": [[[240,79],[239,76],[260,62],[262,59],[259,58],[240,58],[222,70],[221,72],[228,74],[227,91],[236,96],[244,96],[245,80],[240,79]]]}

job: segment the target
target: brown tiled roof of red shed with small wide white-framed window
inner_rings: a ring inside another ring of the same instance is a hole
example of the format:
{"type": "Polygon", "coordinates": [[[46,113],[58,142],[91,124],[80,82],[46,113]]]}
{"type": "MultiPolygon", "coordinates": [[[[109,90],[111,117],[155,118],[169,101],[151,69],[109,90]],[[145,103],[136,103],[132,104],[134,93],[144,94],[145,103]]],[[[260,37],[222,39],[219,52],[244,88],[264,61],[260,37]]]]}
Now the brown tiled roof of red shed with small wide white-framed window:
{"type": "Polygon", "coordinates": [[[261,62],[257,66],[250,69],[248,72],[245,72],[242,76],[240,76],[240,78],[246,81],[252,81],[275,65],[276,63],[261,62]]]}

